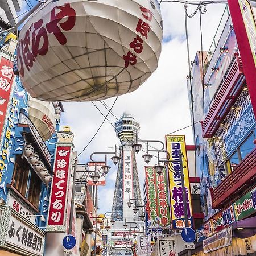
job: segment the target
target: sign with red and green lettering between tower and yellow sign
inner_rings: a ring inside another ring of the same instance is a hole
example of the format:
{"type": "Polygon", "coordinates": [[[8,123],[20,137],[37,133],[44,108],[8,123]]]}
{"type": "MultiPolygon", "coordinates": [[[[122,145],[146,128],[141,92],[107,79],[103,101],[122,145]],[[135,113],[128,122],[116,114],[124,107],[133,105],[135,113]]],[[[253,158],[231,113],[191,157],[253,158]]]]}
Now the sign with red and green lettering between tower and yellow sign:
{"type": "Polygon", "coordinates": [[[166,174],[156,174],[153,166],[145,167],[149,226],[168,226],[171,216],[166,174]]]}

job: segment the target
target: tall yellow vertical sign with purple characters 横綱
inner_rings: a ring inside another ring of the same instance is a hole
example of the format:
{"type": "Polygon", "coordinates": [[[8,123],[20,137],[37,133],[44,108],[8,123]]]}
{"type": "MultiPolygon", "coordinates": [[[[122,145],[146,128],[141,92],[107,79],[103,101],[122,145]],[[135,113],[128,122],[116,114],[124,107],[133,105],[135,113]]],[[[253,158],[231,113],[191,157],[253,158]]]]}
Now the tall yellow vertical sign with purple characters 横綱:
{"type": "Polygon", "coordinates": [[[188,212],[188,224],[192,228],[192,206],[191,206],[191,192],[189,185],[188,175],[188,163],[187,163],[187,151],[184,135],[166,135],[167,151],[170,154],[172,163],[169,165],[169,184],[170,184],[170,198],[171,198],[171,214],[172,214],[172,228],[184,228],[184,205],[182,197],[182,185],[181,185],[181,163],[179,161],[179,152],[183,154],[183,173],[184,183],[186,191],[187,212],[188,212]]]}

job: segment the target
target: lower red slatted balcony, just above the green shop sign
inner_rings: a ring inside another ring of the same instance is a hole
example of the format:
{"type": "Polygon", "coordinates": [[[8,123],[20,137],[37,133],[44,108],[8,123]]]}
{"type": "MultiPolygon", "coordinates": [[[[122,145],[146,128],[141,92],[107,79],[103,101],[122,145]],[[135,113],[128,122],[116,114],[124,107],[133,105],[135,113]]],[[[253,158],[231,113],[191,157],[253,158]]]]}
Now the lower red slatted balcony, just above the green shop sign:
{"type": "Polygon", "coordinates": [[[222,208],[250,188],[256,181],[256,148],[238,164],[215,189],[212,190],[212,207],[222,208]],[[232,197],[232,198],[231,198],[232,197]]]}

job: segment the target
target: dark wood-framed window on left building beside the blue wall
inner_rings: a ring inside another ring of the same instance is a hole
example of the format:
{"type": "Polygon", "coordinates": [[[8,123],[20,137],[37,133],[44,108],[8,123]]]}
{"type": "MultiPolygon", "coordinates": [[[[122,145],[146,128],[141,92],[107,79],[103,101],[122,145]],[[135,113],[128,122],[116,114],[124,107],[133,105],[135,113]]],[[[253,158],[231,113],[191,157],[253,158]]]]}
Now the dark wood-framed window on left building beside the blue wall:
{"type": "Polygon", "coordinates": [[[39,206],[41,182],[27,160],[16,155],[11,184],[36,208],[39,206]]]}

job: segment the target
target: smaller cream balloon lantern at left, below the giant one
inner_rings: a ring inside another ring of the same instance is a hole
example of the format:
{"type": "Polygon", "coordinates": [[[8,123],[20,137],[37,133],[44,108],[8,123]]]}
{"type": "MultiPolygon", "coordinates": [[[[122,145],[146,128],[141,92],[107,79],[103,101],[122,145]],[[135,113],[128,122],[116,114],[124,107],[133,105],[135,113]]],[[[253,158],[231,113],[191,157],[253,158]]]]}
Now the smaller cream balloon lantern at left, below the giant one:
{"type": "Polygon", "coordinates": [[[52,102],[29,97],[28,115],[44,141],[52,137],[56,126],[55,108],[52,102]]]}

